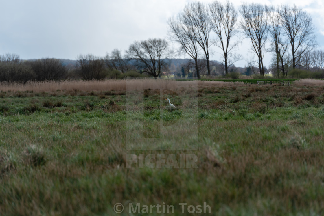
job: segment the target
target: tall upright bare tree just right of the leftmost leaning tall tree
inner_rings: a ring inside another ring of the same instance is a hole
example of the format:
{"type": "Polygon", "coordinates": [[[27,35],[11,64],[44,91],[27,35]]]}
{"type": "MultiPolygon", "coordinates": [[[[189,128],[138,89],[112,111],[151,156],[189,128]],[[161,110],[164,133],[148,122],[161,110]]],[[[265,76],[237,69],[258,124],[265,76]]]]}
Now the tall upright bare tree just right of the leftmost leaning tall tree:
{"type": "Polygon", "coordinates": [[[201,2],[193,2],[185,6],[183,10],[184,23],[192,28],[195,40],[205,54],[208,76],[210,76],[209,66],[209,33],[211,31],[209,10],[201,2]]]}

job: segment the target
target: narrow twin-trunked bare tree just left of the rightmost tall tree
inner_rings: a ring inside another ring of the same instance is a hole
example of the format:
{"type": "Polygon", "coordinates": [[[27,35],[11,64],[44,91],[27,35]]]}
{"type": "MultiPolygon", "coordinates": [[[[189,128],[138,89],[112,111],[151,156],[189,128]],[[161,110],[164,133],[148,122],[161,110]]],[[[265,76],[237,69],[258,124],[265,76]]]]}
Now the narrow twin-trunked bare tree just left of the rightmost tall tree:
{"type": "Polygon", "coordinates": [[[277,70],[277,77],[280,76],[280,70],[282,71],[283,76],[287,75],[284,67],[284,55],[286,53],[288,47],[288,41],[284,41],[282,39],[282,23],[281,23],[281,16],[279,9],[275,10],[273,7],[270,8],[269,13],[270,19],[270,41],[272,43],[272,48],[270,49],[271,52],[275,52],[276,58],[276,70],[277,70]]]}

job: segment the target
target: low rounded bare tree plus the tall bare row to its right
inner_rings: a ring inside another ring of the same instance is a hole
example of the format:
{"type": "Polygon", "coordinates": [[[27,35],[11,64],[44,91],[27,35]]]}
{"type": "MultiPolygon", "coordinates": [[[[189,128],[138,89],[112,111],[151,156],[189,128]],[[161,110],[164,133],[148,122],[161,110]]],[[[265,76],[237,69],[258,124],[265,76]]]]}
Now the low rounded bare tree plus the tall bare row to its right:
{"type": "MultiPolygon", "coordinates": [[[[249,61],[249,68],[262,77],[266,71],[263,62],[266,52],[273,53],[270,67],[277,77],[285,77],[294,69],[324,73],[320,66],[323,51],[315,50],[317,42],[311,16],[296,5],[242,3],[237,11],[230,1],[209,4],[197,1],[170,17],[168,28],[169,41],[177,44],[178,49],[170,50],[166,39],[135,41],[124,59],[132,59],[137,70],[157,77],[166,66],[166,58],[175,53],[185,54],[191,61],[184,66],[194,70],[200,79],[202,74],[211,75],[209,57],[215,47],[222,54],[222,70],[227,75],[230,68],[235,68],[234,63],[243,59],[236,51],[244,37],[248,38],[256,57],[249,61]]],[[[113,59],[121,59],[114,52],[113,59]]]]}

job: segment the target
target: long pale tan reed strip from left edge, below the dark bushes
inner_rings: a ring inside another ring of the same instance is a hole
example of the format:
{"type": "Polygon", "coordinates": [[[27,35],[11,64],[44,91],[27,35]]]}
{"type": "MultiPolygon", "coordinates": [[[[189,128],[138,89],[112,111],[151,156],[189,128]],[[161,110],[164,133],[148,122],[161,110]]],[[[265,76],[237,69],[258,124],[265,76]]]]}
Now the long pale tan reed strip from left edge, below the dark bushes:
{"type": "MultiPolygon", "coordinates": [[[[199,86],[237,86],[244,85],[243,82],[223,81],[198,81],[199,86]]],[[[104,81],[29,81],[23,83],[0,83],[1,92],[56,92],[56,91],[125,91],[139,89],[177,89],[191,88],[197,86],[197,81],[174,81],[155,79],[126,79],[126,80],[104,80],[104,81]],[[127,84],[127,86],[126,86],[127,84]],[[126,89],[127,88],[127,89],[126,89]]]]}

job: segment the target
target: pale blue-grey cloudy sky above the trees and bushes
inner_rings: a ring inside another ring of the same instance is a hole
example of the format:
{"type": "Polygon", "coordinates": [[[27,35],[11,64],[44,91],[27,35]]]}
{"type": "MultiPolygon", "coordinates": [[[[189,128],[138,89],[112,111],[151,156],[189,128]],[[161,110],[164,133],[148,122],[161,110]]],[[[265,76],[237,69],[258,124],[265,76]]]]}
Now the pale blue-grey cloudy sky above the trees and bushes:
{"type": "MultiPolygon", "coordinates": [[[[0,54],[16,53],[21,59],[76,59],[79,54],[105,56],[135,40],[168,37],[168,18],[191,0],[0,0],[0,54]]],[[[201,2],[211,2],[202,0],[201,2]]],[[[221,0],[222,1],[222,0],[221,0]]],[[[223,1],[224,2],[224,1],[223,1]]],[[[238,8],[241,0],[232,0],[238,8]]],[[[260,2],[246,0],[245,2],[260,2]]],[[[313,18],[317,41],[324,48],[323,0],[263,0],[267,5],[296,4],[313,18]]],[[[249,41],[238,53],[249,60],[249,41]]],[[[220,60],[212,48],[212,60],[220,60]]],[[[178,57],[177,58],[184,58],[178,57]]],[[[271,54],[265,56],[268,67],[271,54]]],[[[237,66],[247,64],[246,60],[237,66]]]]}

